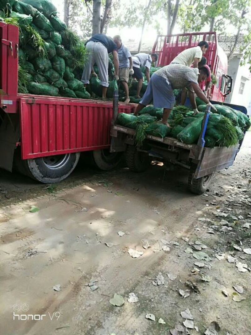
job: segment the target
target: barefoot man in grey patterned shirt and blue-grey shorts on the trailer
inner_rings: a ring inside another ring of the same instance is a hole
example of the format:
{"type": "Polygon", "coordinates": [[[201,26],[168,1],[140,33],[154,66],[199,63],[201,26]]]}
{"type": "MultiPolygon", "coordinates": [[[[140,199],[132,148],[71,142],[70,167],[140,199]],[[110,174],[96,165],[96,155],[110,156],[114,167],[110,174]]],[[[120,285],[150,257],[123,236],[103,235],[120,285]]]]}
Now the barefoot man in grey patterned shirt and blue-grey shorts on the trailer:
{"type": "Polygon", "coordinates": [[[147,90],[138,104],[134,115],[137,116],[153,100],[154,107],[164,108],[162,123],[169,126],[168,118],[175,103],[173,89],[189,86],[193,88],[202,101],[216,110],[198,85],[199,82],[205,80],[208,76],[208,69],[204,66],[199,70],[181,64],[170,64],[162,67],[151,76],[147,90]],[[199,74],[197,74],[197,71],[199,71],[199,74]]]}

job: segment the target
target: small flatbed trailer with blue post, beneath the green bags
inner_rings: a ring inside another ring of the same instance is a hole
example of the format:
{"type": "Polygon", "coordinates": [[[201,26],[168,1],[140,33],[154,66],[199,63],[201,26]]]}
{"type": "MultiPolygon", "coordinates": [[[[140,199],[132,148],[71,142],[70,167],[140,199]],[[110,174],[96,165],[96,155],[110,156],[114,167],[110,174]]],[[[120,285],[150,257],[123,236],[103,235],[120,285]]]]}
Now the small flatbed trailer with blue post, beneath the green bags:
{"type": "MultiPolygon", "coordinates": [[[[239,106],[241,109],[242,107],[239,106]]],[[[116,110],[114,110],[114,120],[116,110]]],[[[185,144],[172,137],[147,135],[143,146],[135,143],[135,130],[114,124],[111,128],[111,152],[124,152],[131,171],[143,172],[157,160],[174,164],[189,170],[188,188],[194,194],[203,194],[209,187],[215,172],[233,165],[240,145],[206,148],[204,135],[210,115],[210,107],[205,111],[201,133],[197,144],[185,144]]]]}

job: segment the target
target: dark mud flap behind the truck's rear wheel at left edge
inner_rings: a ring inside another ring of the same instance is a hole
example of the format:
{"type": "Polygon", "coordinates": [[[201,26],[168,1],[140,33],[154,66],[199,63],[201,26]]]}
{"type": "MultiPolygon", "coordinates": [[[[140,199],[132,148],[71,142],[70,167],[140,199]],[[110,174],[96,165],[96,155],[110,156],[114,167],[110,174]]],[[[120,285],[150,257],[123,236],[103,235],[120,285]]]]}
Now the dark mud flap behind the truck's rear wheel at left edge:
{"type": "Polygon", "coordinates": [[[14,150],[20,140],[19,114],[1,113],[0,167],[12,172],[14,150]]]}

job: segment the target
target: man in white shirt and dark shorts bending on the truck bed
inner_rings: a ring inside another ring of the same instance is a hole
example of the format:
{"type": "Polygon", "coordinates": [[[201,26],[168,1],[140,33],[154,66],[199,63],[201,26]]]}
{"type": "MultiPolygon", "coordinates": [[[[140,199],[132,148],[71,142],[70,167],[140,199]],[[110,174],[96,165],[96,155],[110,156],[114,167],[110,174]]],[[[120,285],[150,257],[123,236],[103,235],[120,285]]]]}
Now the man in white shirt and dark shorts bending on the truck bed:
{"type": "Polygon", "coordinates": [[[137,85],[137,98],[140,98],[140,91],[142,88],[142,84],[143,84],[143,75],[141,72],[141,67],[145,66],[146,67],[146,78],[147,78],[147,82],[149,83],[150,81],[150,67],[152,62],[156,62],[158,59],[158,56],[156,54],[145,54],[145,53],[140,53],[140,54],[136,54],[135,56],[133,56],[133,70],[134,70],[134,74],[133,77],[136,78],[138,80],[138,85],[137,85]]]}

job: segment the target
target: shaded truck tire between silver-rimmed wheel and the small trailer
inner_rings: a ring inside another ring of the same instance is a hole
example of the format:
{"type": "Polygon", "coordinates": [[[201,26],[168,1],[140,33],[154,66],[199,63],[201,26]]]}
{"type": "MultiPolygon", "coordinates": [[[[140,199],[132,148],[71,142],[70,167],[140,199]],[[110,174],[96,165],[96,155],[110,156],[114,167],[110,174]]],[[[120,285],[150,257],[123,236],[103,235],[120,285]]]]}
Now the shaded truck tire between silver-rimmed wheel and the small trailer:
{"type": "Polygon", "coordinates": [[[91,152],[91,161],[100,170],[108,171],[114,169],[120,162],[122,153],[111,153],[109,149],[94,150],[91,152]]]}

